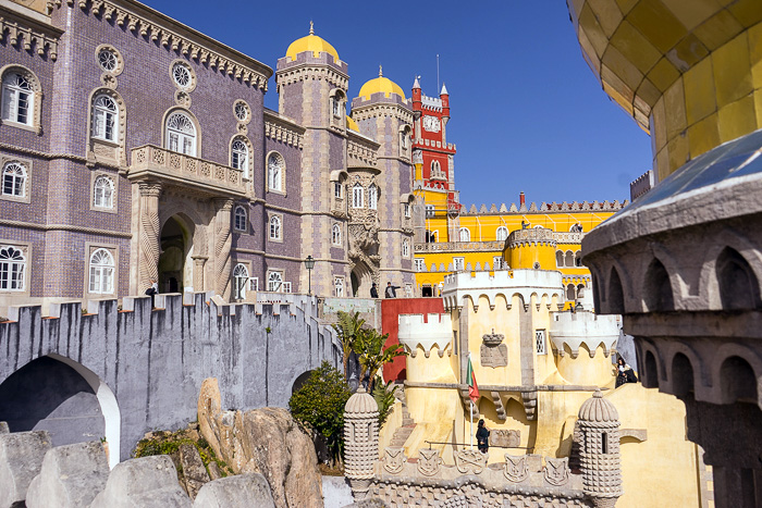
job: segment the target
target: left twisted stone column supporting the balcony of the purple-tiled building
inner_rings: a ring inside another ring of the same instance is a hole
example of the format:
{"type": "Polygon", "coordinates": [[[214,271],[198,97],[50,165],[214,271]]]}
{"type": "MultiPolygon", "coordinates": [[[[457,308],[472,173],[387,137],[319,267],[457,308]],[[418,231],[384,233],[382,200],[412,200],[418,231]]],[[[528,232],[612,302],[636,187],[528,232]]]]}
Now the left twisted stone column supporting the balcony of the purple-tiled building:
{"type": "Polygon", "coordinates": [[[159,281],[159,196],[161,184],[157,182],[139,182],[140,191],[140,224],[139,224],[139,258],[138,258],[138,292],[143,294],[151,285],[151,280],[159,281]]]}

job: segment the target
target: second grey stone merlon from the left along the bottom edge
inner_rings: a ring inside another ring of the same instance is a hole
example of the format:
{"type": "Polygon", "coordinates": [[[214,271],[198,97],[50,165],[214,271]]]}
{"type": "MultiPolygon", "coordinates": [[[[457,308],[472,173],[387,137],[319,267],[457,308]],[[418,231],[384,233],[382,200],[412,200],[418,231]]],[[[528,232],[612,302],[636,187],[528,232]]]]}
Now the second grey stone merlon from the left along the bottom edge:
{"type": "Polygon", "coordinates": [[[89,506],[106,488],[109,463],[100,442],[58,446],[48,450],[26,495],[27,508],[89,506]]]}

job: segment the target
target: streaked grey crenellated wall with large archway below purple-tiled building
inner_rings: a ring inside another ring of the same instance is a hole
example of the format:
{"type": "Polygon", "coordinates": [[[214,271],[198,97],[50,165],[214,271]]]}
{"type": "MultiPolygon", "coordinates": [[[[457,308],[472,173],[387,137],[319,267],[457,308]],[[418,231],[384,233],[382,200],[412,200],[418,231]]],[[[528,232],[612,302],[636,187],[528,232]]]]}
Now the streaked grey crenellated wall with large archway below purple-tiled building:
{"type": "Polygon", "coordinates": [[[341,363],[333,331],[317,320],[317,299],[288,296],[288,305],[228,306],[202,293],[186,301],[158,295],[153,311],[148,297],[124,298],[122,309],[90,300],[51,305],[45,318],[39,306],[14,307],[12,321],[0,323],[0,398],[13,396],[40,418],[19,419],[11,431],[47,430],[56,446],[106,437],[125,459],[145,432],[196,418],[206,377],[219,380],[225,409],[285,407],[299,375],[322,360],[341,363]],[[76,371],[90,389],[46,382],[48,371],[35,365],[49,361],[76,371]],[[11,385],[24,393],[9,394],[11,385]],[[42,407],[50,400],[56,407],[42,407]]]}

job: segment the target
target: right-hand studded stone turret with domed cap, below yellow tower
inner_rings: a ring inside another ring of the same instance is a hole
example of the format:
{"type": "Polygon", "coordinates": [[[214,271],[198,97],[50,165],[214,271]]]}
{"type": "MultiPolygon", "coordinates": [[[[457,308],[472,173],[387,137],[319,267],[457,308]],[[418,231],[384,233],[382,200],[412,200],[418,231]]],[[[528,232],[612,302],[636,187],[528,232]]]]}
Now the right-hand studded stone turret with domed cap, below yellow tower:
{"type": "Polygon", "coordinates": [[[619,467],[619,413],[597,389],[579,408],[582,490],[595,508],[612,508],[624,494],[619,467]]]}

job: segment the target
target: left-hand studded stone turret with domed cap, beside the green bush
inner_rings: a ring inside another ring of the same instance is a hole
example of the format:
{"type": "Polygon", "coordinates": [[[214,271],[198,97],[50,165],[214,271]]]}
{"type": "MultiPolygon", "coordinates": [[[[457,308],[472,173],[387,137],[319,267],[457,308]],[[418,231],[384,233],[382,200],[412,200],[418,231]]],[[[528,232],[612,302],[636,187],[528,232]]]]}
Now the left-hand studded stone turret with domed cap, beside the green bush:
{"type": "Polygon", "coordinates": [[[344,407],[344,474],[356,500],[368,497],[379,459],[379,406],[362,385],[344,407]]]}

